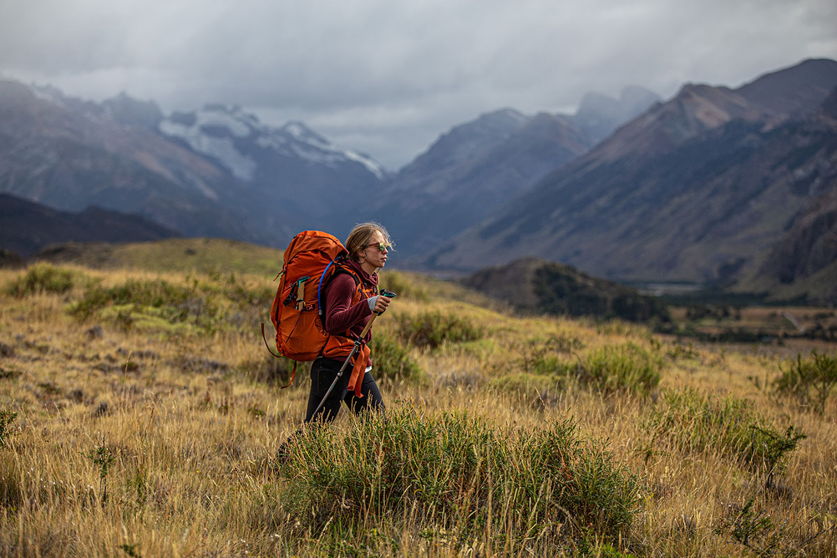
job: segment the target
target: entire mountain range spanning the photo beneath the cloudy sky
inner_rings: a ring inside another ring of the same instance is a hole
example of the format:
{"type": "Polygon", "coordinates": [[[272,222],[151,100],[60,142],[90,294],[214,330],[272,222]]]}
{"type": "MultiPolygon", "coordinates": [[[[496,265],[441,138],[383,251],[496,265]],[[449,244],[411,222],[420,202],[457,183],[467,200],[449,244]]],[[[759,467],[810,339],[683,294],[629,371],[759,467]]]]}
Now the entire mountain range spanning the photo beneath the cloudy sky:
{"type": "Polygon", "coordinates": [[[390,173],[239,107],[163,115],[127,95],[96,104],[0,81],[0,192],[276,247],[376,219],[394,262],[436,272],[537,256],[619,281],[837,299],[835,88],[837,62],[810,59],[667,101],[631,87],[588,94],[574,115],[506,108],[390,173]]]}

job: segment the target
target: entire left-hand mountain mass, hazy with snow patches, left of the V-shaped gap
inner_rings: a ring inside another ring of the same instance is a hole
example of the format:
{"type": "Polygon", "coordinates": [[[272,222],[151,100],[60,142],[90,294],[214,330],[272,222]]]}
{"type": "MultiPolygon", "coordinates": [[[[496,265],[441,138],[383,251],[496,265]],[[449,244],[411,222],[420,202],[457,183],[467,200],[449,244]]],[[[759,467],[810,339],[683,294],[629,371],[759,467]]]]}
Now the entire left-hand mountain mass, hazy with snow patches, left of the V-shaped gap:
{"type": "Polygon", "coordinates": [[[64,211],[141,214],[187,236],[282,246],[346,230],[386,171],[305,125],[263,125],[210,105],[162,115],[127,95],[101,104],[0,81],[0,192],[64,211]]]}

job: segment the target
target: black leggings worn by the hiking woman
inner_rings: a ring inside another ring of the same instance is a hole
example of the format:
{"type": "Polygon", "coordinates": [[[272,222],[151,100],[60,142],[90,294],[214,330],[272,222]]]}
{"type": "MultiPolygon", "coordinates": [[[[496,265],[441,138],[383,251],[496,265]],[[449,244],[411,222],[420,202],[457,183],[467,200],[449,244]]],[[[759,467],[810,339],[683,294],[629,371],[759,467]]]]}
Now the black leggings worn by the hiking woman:
{"type": "Polygon", "coordinates": [[[314,417],[316,406],[320,404],[322,398],[326,395],[328,387],[336,378],[340,367],[343,366],[344,360],[336,361],[331,358],[321,356],[313,364],[311,364],[311,395],[308,396],[308,410],[306,411],[306,422],[315,420],[322,420],[322,422],[331,422],[337,417],[340,412],[341,402],[346,402],[349,409],[355,414],[362,412],[365,409],[373,409],[383,411],[383,399],[381,392],[377,389],[377,384],[372,378],[372,374],[367,372],[363,375],[363,382],[361,384],[361,393],[363,397],[355,396],[355,392],[348,391],[349,377],[352,376],[352,362],[343,371],[340,380],[328,394],[326,403],[320,409],[317,417],[314,417]]]}

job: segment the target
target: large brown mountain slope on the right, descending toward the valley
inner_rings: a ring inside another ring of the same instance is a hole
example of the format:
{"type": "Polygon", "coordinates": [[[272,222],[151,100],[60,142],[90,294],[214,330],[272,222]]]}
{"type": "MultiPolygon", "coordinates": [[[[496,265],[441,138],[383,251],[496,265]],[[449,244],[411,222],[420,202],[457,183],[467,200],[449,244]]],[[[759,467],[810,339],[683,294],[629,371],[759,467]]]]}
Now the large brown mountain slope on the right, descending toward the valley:
{"type": "Polygon", "coordinates": [[[815,113],[837,63],[799,67],[739,90],[687,85],[427,264],[538,255],[614,279],[728,279],[833,184],[834,125],[815,113]]]}

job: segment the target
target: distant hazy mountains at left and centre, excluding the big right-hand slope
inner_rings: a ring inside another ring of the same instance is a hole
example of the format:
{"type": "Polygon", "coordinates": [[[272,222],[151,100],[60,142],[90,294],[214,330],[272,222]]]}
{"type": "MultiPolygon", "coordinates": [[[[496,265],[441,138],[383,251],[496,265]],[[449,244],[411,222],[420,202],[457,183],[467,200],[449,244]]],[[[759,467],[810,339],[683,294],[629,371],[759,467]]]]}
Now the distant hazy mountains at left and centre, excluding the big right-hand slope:
{"type": "Polygon", "coordinates": [[[657,99],[634,87],[619,100],[587,95],[577,115],[499,110],[455,127],[392,176],[301,122],[272,127],[237,106],[163,115],[125,94],[96,104],[0,81],[0,192],[271,246],[300,229],[339,232],[387,215],[409,254],[421,233],[448,238],[477,223],[657,99]]]}

